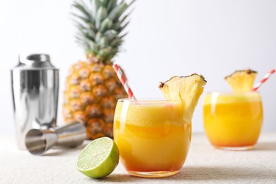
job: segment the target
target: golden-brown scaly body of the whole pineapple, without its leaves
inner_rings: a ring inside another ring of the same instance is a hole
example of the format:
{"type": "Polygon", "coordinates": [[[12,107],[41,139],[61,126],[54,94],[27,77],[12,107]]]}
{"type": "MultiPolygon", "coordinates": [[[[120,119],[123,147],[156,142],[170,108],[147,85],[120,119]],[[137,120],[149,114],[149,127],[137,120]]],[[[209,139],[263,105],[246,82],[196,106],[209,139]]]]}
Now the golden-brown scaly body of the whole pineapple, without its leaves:
{"type": "Polygon", "coordinates": [[[77,62],[66,79],[64,122],[83,122],[88,139],[113,138],[115,107],[120,98],[127,98],[127,93],[111,63],[77,62]]]}

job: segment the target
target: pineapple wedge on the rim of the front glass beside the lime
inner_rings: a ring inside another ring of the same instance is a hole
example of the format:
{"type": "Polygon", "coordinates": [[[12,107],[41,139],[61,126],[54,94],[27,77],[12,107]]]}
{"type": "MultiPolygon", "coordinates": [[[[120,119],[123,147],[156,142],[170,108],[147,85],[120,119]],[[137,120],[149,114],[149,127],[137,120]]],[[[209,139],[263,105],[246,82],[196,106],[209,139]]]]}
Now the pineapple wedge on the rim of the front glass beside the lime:
{"type": "Polygon", "coordinates": [[[173,76],[166,82],[161,82],[159,88],[166,100],[181,100],[183,119],[190,123],[197,102],[207,81],[202,75],[173,76]]]}

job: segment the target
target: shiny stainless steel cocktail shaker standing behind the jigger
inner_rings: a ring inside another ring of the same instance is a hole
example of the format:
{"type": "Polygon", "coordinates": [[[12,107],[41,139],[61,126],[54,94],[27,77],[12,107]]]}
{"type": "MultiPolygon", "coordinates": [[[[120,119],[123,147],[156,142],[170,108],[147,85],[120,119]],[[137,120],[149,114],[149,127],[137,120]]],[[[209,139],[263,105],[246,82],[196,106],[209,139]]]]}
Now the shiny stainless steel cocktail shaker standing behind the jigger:
{"type": "Polygon", "coordinates": [[[19,149],[28,130],[49,129],[57,123],[59,70],[47,54],[21,54],[11,69],[13,112],[19,149]]]}

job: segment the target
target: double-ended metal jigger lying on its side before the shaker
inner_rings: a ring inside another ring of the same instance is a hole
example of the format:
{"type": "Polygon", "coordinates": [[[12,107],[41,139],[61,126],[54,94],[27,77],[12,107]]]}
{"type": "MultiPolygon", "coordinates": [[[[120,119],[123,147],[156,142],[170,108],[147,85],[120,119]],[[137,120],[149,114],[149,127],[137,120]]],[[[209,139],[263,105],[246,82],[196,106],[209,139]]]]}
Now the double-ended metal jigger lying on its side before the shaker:
{"type": "Polygon", "coordinates": [[[29,130],[25,136],[25,146],[31,154],[41,155],[53,146],[79,146],[85,139],[84,125],[81,122],[72,122],[49,130],[29,130]]]}

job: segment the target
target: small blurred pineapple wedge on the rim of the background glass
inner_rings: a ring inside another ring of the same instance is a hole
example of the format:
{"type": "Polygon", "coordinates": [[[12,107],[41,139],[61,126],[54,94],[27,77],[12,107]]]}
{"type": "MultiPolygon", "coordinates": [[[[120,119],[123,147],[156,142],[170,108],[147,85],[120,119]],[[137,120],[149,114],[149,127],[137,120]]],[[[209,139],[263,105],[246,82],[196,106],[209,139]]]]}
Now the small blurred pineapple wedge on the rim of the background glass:
{"type": "Polygon", "coordinates": [[[233,74],[226,76],[224,79],[235,92],[251,91],[257,76],[257,71],[251,69],[237,70],[233,74]]]}

